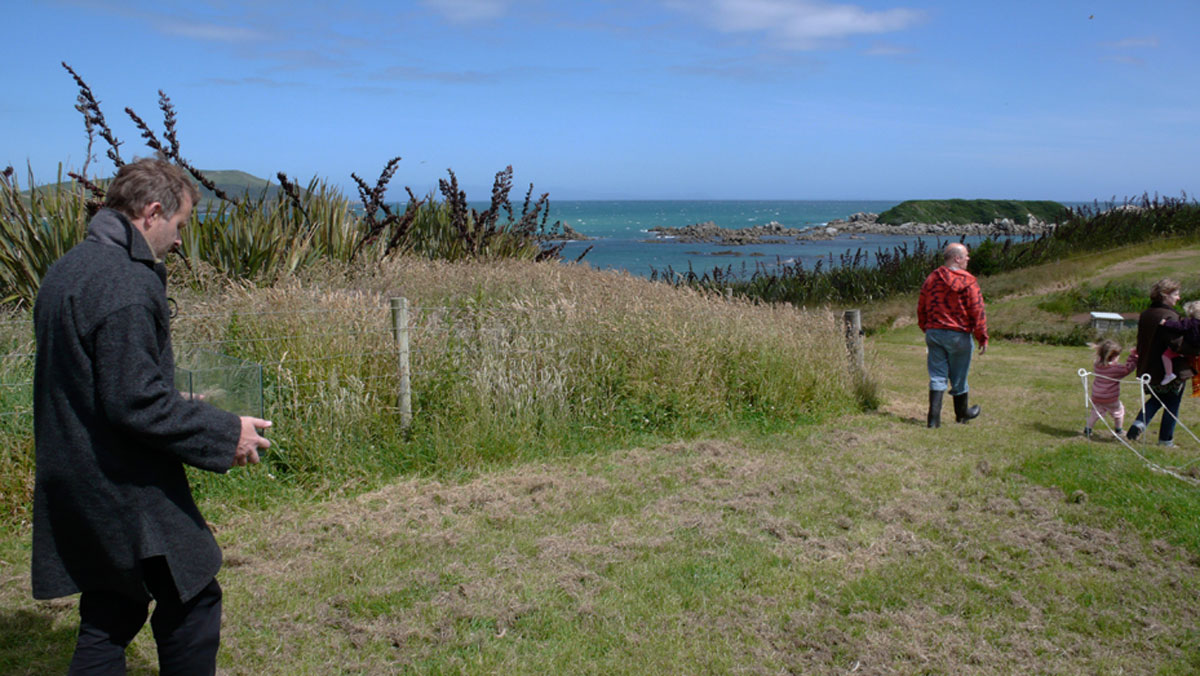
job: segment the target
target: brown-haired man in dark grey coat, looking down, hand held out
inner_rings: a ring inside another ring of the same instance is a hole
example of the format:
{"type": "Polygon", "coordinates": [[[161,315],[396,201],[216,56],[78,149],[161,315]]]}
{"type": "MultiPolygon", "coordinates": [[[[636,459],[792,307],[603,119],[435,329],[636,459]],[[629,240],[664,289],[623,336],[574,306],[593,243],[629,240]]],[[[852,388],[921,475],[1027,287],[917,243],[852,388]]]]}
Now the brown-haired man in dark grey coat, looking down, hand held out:
{"type": "Polygon", "coordinates": [[[121,167],[34,306],[32,587],[82,592],[72,674],[124,674],[151,598],[161,672],[216,670],[221,550],[184,465],[258,462],[270,423],[174,387],[162,259],[198,197],[161,158],[121,167]]]}

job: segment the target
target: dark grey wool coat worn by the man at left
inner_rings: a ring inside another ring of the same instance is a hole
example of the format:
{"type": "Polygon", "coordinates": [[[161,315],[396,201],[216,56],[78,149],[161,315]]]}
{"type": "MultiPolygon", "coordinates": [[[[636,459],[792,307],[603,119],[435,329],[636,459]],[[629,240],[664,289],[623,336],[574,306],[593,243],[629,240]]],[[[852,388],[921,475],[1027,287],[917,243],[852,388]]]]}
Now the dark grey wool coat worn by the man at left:
{"type": "Polygon", "coordinates": [[[149,598],[140,562],[163,556],[191,599],[221,550],[184,463],[229,469],[241,420],[175,389],[166,268],[102,209],[42,280],[34,325],[34,598],[149,598]]]}

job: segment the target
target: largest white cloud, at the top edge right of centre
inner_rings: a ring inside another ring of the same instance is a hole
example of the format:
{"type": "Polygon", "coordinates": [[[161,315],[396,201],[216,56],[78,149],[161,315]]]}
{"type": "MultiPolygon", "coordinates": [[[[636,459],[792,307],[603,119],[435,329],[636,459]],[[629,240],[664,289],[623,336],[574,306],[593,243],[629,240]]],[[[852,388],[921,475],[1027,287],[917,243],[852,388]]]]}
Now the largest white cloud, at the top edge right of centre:
{"type": "Polygon", "coordinates": [[[870,11],[818,0],[664,0],[725,32],[758,32],[791,49],[820,49],[856,35],[904,30],[924,19],[918,10],[870,11]]]}

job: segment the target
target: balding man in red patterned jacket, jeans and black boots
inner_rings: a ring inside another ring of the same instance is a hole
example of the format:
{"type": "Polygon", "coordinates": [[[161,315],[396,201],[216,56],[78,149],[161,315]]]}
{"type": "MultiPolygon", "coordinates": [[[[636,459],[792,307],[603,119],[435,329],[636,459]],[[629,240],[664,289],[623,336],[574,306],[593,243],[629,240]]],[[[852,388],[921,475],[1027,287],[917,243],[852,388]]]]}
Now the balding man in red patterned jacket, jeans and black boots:
{"type": "Polygon", "coordinates": [[[950,243],[942,251],[943,264],[925,277],[917,303],[917,324],[925,333],[929,370],[929,415],[926,425],[942,425],[946,390],[954,397],[954,420],[967,423],[979,415],[971,406],[967,372],[971,370],[971,337],[979,354],[988,349],[988,317],[983,293],[974,275],[967,271],[971,253],[965,244],[950,243]]]}

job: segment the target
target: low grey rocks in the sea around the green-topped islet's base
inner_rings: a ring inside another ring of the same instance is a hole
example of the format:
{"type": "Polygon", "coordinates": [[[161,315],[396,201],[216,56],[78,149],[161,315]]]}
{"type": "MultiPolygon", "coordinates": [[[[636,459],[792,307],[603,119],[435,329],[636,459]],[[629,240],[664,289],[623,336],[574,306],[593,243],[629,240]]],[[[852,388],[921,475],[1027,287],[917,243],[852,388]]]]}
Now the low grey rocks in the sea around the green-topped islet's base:
{"type": "Polygon", "coordinates": [[[722,228],[708,221],[694,223],[682,228],[658,227],[650,228],[658,239],[650,241],[677,241],[690,244],[722,244],[727,246],[739,246],[746,244],[788,244],[790,241],[810,241],[822,239],[834,239],[842,235],[854,238],[864,234],[890,234],[890,235],[932,235],[942,238],[954,237],[1036,237],[1045,234],[1057,227],[1057,223],[1046,223],[1030,215],[1028,223],[1018,223],[1010,219],[996,219],[990,223],[881,223],[878,214],[860,211],[847,219],[835,219],[824,226],[815,228],[788,228],[781,223],[772,221],[766,226],[751,226],[749,228],[722,228]]]}

